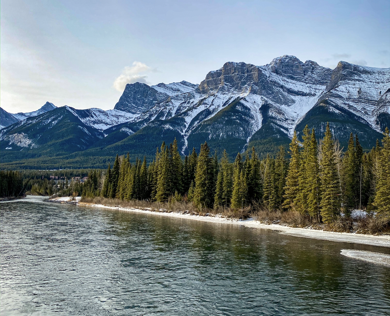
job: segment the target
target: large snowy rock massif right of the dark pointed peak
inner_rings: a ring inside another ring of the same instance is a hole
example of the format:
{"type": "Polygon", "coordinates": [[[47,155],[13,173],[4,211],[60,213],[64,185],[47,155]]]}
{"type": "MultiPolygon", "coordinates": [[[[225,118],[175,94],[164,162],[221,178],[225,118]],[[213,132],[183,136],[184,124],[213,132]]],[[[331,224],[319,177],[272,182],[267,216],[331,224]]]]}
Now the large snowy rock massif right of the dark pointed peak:
{"type": "MultiPolygon", "coordinates": [[[[340,112],[341,107],[355,115],[353,120],[379,132],[389,120],[385,116],[378,122],[379,113],[389,111],[388,87],[390,69],[346,62],[340,62],[333,71],[287,55],[264,66],[227,62],[209,72],[195,90],[155,101],[152,108],[133,119],[130,128],[138,131],[151,124],[175,131],[183,153],[197,147],[199,139],[216,144],[230,139],[230,145],[235,143],[236,150],[242,151],[255,133],[273,130],[277,138],[291,138],[297,124],[305,118],[307,121],[309,111],[326,100],[328,112],[340,112]],[[267,131],[262,131],[263,126],[267,131]]],[[[324,115],[325,124],[326,120],[324,115]]],[[[321,131],[321,125],[315,127],[321,131]]],[[[350,129],[348,134],[362,134],[364,142],[365,132],[357,127],[350,129]]]]}

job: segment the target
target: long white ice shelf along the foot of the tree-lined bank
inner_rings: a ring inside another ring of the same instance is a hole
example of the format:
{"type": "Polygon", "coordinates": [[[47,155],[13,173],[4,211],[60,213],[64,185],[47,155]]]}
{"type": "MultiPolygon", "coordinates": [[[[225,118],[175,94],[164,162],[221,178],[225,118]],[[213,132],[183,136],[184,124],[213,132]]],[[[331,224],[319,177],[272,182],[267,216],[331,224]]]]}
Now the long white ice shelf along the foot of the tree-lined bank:
{"type": "Polygon", "coordinates": [[[137,208],[124,208],[124,207],[97,205],[97,204],[90,204],[90,203],[83,203],[83,202],[78,203],[78,205],[85,205],[90,207],[103,207],[103,208],[110,208],[113,210],[122,210],[122,211],[137,212],[137,213],[144,213],[144,214],[155,214],[160,216],[195,219],[197,221],[230,223],[230,224],[243,225],[252,228],[271,229],[271,230],[279,231],[281,234],[284,235],[290,235],[296,237],[330,240],[335,242],[348,242],[352,244],[390,247],[390,236],[388,235],[374,236],[374,235],[363,235],[363,234],[355,234],[355,233],[334,233],[331,231],[322,231],[322,230],[315,230],[315,229],[308,229],[308,228],[293,228],[293,227],[282,226],[278,224],[267,225],[267,224],[262,224],[261,222],[256,221],[253,218],[246,219],[246,220],[238,220],[238,219],[229,219],[226,217],[222,217],[221,215],[200,216],[200,215],[192,215],[189,214],[188,212],[169,212],[167,210],[160,210],[159,212],[156,212],[149,209],[141,210],[137,208]]]}

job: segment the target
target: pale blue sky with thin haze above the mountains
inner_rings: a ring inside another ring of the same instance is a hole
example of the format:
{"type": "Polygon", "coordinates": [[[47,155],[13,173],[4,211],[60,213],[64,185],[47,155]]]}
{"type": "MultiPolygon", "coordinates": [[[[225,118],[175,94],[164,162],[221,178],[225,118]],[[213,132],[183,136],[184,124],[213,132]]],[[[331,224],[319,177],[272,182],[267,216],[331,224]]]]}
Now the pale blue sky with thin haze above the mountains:
{"type": "Polygon", "coordinates": [[[0,23],[0,102],[11,113],[46,101],[112,109],[126,82],[200,83],[227,61],[390,67],[389,0],[2,0],[0,23]]]}

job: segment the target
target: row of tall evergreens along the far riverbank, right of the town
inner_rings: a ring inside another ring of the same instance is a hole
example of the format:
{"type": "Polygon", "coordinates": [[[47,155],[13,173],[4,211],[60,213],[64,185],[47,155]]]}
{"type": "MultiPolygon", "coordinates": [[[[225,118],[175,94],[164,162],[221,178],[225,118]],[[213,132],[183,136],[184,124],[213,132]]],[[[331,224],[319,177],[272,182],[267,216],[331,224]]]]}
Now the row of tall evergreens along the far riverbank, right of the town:
{"type": "Polygon", "coordinates": [[[306,126],[301,140],[294,132],[289,159],[280,147],[276,157],[260,161],[252,148],[250,156],[238,154],[231,163],[226,152],[220,161],[211,156],[207,143],[199,155],[193,149],[183,161],[176,140],[169,146],[163,142],[149,165],[145,157],[131,163],[129,155],[117,155],[101,191],[95,186],[93,194],[127,201],[184,200],[204,208],[296,210],[313,222],[331,222],[355,208],[390,217],[388,129],[382,146],[377,141],[368,153],[356,135],[351,134],[348,144],[343,154],[329,124],[319,142],[314,129],[306,126]]]}

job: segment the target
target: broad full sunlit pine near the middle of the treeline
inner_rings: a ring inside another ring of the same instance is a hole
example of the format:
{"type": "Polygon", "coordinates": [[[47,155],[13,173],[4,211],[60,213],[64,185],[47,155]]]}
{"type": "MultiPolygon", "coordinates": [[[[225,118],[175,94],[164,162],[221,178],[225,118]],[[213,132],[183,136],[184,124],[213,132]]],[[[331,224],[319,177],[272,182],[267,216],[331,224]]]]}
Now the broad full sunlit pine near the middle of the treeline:
{"type": "Polygon", "coordinates": [[[195,192],[193,201],[198,207],[212,207],[213,194],[213,165],[209,157],[210,147],[207,142],[200,145],[197,169],[195,173],[195,192]]]}

